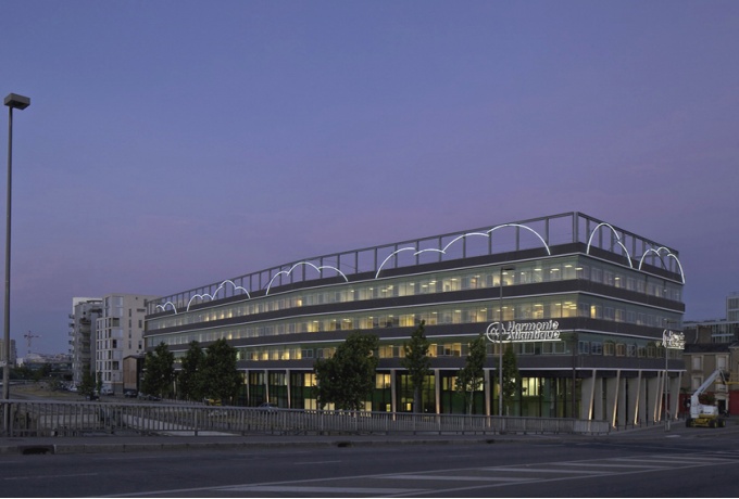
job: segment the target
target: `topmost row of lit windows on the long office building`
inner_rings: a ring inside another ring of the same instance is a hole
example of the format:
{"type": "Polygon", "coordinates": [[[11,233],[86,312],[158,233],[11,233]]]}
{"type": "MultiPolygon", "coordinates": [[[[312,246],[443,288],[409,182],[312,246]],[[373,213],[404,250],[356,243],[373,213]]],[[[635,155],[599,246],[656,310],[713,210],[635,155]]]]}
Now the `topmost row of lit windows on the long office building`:
{"type": "MultiPolygon", "coordinates": [[[[592,263],[584,258],[553,258],[517,265],[515,270],[502,272],[500,267],[487,267],[467,271],[437,272],[383,281],[328,286],[318,290],[300,290],[277,296],[267,296],[238,304],[224,305],[192,312],[185,310],[188,304],[177,304],[179,314],[150,319],[148,331],[210,322],[214,320],[247,317],[267,311],[288,310],[311,305],[361,302],[462,290],[499,287],[502,284],[529,284],[550,281],[585,279],[614,287],[624,287],[642,294],[661,296],[679,302],[681,286],[647,274],[592,263]]],[[[197,303],[197,302],[196,302],[197,303]]]]}

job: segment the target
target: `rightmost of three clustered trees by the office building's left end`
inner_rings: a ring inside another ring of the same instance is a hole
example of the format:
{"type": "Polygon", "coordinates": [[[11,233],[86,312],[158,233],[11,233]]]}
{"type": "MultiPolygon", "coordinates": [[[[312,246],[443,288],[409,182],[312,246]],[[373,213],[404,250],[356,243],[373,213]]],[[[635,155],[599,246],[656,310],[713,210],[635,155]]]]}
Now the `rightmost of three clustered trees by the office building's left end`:
{"type": "Polygon", "coordinates": [[[236,348],[224,338],[216,340],[206,348],[200,374],[196,376],[196,386],[202,389],[202,395],[224,401],[236,397],[243,384],[236,368],[236,348]]]}

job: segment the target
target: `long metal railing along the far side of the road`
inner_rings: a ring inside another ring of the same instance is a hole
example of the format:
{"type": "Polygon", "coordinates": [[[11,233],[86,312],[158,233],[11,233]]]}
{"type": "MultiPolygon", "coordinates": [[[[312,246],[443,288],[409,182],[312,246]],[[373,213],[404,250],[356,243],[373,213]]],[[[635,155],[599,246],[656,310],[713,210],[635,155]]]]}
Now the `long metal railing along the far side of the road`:
{"type": "Polygon", "coordinates": [[[247,434],[608,434],[605,421],[201,405],[3,400],[14,437],[247,434]]]}

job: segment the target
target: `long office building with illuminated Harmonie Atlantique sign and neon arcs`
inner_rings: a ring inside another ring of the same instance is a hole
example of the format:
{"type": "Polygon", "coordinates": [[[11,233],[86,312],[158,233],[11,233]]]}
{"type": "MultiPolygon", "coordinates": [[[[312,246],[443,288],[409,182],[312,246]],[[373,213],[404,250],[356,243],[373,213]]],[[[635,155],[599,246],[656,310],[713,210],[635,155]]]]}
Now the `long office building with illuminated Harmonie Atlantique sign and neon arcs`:
{"type": "MultiPolygon", "coordinates": [[[[677,393],[685,305],[677,251],[580,213],[348,251],[217,281],[147,304],[146,346],[181,358],[225,338],[245,376],[240,404],[313,408],[313,363],[353,332],[377,335],[366,408],[463,412],[455,392],[468,343],[489,340],[476,413],[497,414],[506,343],[519,379],[510,414],[659,421],[665,372],[677,393]],[[423,407],[402,364],[421,322],[431,342],[423,407]],[[665,369],[667,368],[667,369],[665,369]]],[[[677,413],[677,397],[671,414],[677,413]]]]}

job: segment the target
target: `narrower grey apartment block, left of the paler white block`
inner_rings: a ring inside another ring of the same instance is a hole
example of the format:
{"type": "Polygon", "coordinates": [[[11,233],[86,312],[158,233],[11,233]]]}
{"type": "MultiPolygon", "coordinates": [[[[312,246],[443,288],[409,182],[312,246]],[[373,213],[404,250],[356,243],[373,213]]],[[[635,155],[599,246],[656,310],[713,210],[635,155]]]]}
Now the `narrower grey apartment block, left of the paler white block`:
{"type": "Polygon", "coordinates": [[[84,372],[92,372],[95,355],[95,329],[102,315],[102,298],[72,298],[70,315],[70,355],[72,356],[72,381],[78,385],[84,372]]]}

